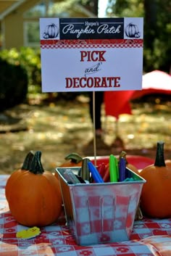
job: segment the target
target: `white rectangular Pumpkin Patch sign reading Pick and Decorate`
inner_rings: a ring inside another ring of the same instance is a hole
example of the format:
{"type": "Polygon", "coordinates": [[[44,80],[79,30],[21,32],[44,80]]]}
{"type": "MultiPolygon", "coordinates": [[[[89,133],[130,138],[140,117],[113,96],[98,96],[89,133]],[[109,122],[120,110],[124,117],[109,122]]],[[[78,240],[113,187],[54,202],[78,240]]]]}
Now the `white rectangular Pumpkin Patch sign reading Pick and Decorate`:
{"type": "Polygon", "coordinates": [[[141,90],[143,18],[41,18],[42,91],[141,90]]]}

